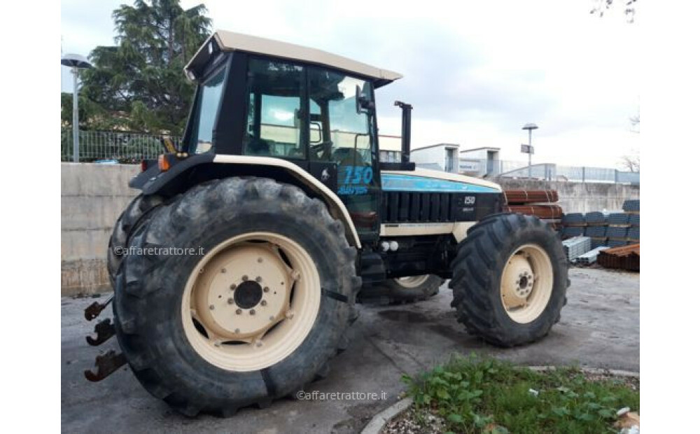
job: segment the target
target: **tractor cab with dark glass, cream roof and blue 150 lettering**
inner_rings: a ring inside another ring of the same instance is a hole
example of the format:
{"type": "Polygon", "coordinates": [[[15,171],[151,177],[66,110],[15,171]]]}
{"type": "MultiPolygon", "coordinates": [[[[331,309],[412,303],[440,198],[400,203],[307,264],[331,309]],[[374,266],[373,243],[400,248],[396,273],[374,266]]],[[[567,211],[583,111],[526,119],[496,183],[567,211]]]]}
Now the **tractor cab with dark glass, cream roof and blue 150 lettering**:
{"type": "Polygon", "coordinates": [[[321,50],[218,31],[186,66],[197,82],[181,151],[292,162],[379,232],[374,90],[398,73],[321,50]]]}

